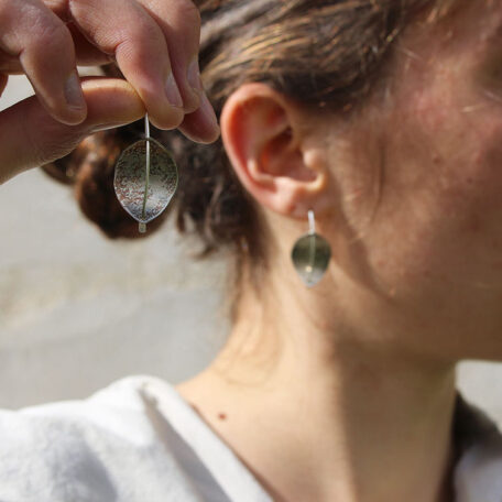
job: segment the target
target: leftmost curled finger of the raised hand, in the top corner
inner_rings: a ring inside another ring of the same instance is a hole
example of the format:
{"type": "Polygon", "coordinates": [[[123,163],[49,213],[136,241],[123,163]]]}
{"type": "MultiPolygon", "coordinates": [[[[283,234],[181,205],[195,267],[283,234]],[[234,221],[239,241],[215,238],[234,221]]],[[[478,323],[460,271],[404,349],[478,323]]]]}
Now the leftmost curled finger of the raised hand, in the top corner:
{"type": "Polygon", "coordinates": [[[81,122],[87,107],[63,21],[39,0],[0,0],[0,47],[19,57],[46,110],[64,123],[81,122]]]}

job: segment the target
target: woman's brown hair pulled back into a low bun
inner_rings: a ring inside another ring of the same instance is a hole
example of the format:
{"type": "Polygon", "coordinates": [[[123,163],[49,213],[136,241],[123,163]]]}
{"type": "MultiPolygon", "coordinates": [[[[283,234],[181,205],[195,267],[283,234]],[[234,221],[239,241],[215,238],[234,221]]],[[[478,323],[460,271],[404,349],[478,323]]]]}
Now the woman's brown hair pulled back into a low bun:
{"type": "MultiPolygon", "coordinates": [[[[206,92],[219,116],[241,84],[260,81],[299,102],[325,110],[349,110],[365,102],[391,59],[397,35],[426,9],[438,19],[455,0],[199,0],[199,63],[206,92]]],[[[108,74],[117,75],[109,67],[108,74]]],[[[175,131],[152,135],[171,150],[179,167],[177,195],[145,234],[118,203],[113,168],[120,152],[141,138],[142,122],[97,133],[72,154],[44,166],[73,184],[83,212],[111,238],[141,238],[176,210],[182,233],[195,233],[201,257],[229,249],[233,274],[229,315],[242,291],[243,266],[260,281],[266,270],[266,228],[260,210],[239,183],[221,140],[210,145],[175,131]],[[174,204],[173,204],[174,203],[174,204]]]]}

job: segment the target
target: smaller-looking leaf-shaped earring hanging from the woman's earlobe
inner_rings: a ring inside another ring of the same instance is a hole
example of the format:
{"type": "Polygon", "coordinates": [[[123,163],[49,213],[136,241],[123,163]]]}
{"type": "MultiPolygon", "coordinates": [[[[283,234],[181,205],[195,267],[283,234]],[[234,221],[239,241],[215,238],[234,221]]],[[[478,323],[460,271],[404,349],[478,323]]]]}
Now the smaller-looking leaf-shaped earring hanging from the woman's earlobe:
{"type": "Polygon", "coordinates": [[[331,258],[329,242],[316,233],[314,211],[308,211],[308,233],[302,236],[291,253],[293,264],[302,282],[310,287],[316,285],[328,269],[331,258]]]}

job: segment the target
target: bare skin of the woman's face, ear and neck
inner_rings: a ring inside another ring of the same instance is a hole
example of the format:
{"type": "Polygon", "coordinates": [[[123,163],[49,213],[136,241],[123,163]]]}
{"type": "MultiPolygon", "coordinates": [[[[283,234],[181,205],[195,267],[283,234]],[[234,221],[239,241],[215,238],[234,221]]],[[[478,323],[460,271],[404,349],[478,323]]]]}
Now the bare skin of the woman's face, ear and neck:
{"type": "Polygon", "coordinates": [[[276,501],[454,500],[456,363],[502,359],[501,36],[499,0],[417,20],[351,116],[227,100],[270,266],[177,390],[276,501]],[[332,250],[312,290],[290,259],[309,208],[332,250]]]}

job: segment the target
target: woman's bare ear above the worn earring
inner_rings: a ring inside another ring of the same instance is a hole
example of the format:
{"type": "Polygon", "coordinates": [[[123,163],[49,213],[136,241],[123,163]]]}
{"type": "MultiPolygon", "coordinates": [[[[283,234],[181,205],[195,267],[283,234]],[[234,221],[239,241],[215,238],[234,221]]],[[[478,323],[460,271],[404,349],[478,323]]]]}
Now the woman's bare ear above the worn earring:
{"type": "Polygon", "coordinates": [[[243,186],[263,206],[305,218],[326,192],[328,170],[307,148],[305,116],[265,84],[244,84],[220,117],[228,157],[243,186]]]}

